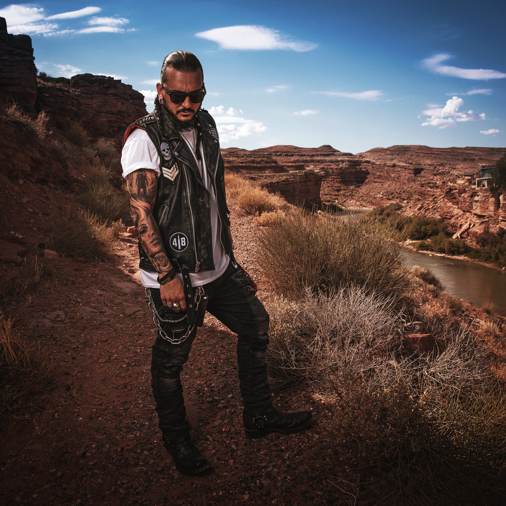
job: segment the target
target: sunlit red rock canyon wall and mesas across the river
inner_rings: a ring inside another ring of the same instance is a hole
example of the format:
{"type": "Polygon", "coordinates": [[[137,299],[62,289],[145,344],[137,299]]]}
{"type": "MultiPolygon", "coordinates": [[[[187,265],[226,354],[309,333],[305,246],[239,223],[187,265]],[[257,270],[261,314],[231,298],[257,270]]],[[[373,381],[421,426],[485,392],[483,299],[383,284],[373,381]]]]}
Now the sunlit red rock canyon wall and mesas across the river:
{"type": "Polygon", "coordinates": [[[506,227],[506,197],[475,185],[480,168],[494,165],[506,148],[392,146],[353,155],[331,146],[273,146],[222,153],[229,170],[291,202],[317,204],[318,193],[322,203],[348,207],[398,202],[404,214],[444,219],[453,232],[465,228],[464,235],[506,227]]]}

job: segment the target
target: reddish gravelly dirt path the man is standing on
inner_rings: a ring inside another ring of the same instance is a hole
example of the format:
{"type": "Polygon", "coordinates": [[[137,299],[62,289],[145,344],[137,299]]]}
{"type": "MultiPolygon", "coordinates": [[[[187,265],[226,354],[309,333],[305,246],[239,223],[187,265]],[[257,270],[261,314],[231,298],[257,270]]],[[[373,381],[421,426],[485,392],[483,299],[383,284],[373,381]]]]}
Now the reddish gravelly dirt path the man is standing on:
{"type": "MultiPolygon", "coordinates": [[[[31,194],[33,221],[47,209],[37,210],[46,201],[30,188],[37,189],[26,183],[23,191],[26,198],[31,194]]],[[[40,231],[23,225],[30,222],[23,213],[16,220],[24,228],[18,235],[29,249],[40,231]]],[[[235,213],[233,228],[238,258],[259,279],[251,218],[235,213]]],[[[193,437],[213,469],[196,478],[178,473],[161,445],[151,398],[155,332],[138,280],[135,238],[125,233],[108,261],[52,262],[56,277],[23,303],[3,308],[39,358],[50,363],[52,384],[33,399],[30,412],[1,421],[0,503],[335,503],[338,490],[314,459],[322,443],[324,405],[303,387],[274,387],[282,409],[319,411],[318,421],[302,434],[248,440],[240,416],[235,337],[209,316],[183,384],[193,437]]],[[[259,296],[266,294],[264,287],[259,296]]]]}

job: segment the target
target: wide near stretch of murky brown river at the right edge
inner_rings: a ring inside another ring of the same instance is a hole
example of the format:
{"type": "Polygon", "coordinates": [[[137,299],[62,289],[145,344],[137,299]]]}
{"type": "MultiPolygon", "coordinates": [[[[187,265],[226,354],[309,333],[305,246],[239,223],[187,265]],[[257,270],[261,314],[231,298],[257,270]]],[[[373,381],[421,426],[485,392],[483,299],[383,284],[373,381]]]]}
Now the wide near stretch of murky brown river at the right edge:
{"type": "Polygon", "coordinates": [[[452,297],[481,307],[491,301],[494,312],[506,316],[506,272],[476,262],[405,251],[406,265],[426,267],[441,281],[452,297]]]}

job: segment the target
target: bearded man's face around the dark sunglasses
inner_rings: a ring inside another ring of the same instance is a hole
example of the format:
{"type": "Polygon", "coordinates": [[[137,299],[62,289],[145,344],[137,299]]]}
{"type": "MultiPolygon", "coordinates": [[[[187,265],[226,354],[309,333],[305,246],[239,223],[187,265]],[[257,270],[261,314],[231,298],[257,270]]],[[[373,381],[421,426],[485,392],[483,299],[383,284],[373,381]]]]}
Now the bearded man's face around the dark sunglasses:
{"type": "MultiPolygon", "coordinates": [[[[183,92],[191,93],[202,90],[204,86],[202,72],[197,70],[196,72],[180,72],[172,67],[167,68],[165,73],[167,79],[164,83],[165,88],[169,92],[183,92]]],[[[190,101],[190,97],[186,97],[182,104],[173,104],[171,98],[165,93],[161,84],[158,82],[156,85],[158,97],[162,97],[163,104],[167,109],[168,113],[173,119],[176,119],[176,123],[180,128],[184,128],[186,125],[192,126],[192,119],[201,102],[194,104],[190,101]]]]}

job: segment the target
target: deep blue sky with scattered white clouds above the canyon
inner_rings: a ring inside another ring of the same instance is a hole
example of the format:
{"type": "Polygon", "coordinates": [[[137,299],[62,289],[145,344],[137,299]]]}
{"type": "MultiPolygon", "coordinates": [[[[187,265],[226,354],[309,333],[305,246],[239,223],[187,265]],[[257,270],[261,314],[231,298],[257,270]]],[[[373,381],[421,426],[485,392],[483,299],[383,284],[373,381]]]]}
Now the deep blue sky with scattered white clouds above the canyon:
{"type": "Polygon", "coordinates": [[[498,0],[72,0],[0,16],[32,37],[39,71],[111,75],[148,111],[165,55],[195,53],[222,147],[506,145],[498,0]]]}

